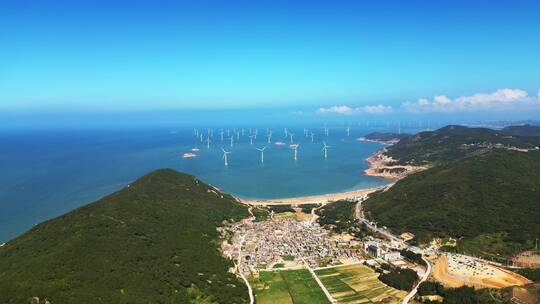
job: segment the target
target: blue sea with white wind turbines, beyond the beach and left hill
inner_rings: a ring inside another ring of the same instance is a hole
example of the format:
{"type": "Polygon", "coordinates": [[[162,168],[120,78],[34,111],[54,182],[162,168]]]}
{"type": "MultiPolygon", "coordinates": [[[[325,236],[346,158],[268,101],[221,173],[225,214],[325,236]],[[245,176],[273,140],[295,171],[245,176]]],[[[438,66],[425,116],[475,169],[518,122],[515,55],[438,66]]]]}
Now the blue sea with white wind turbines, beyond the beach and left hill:
{"type": "MultiPolygon", "coordinates": [[[[298,148],[293,160],[283,129],[274,129],[273,143],[259,137],[251,145],[245,136],[235,142],[220,141],[214,129],[208,149],[192,128],[2,131],[0,133],[0,242],[33,225],[58,216],[114,192],[145,173],[173,168],[196,175],[225,192],[245,198],[279,198],[369,188],[387,181],[363,175],[365,158],[382,146],[356,138],[368,130],[353,129],[351,135],[322,128],[314,130],[315,142],[292,129],[298,148]],[[331,147],[323,158],[322,141],[331,147]],[[286,142],[276,146],[275,141],[286,142]],[[265,163],[255,147],[267,146],[265,163]],[[229,154],[225,167],[221,148],[229,154]],[[199,148],[195,158],[182,153],[199,148]]],[[[205,131],[206,132],[206,131],[205,131]]],[[[206,136],[206,135],[205,135],[206,136]]]]}

